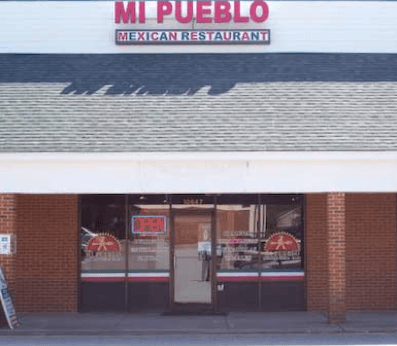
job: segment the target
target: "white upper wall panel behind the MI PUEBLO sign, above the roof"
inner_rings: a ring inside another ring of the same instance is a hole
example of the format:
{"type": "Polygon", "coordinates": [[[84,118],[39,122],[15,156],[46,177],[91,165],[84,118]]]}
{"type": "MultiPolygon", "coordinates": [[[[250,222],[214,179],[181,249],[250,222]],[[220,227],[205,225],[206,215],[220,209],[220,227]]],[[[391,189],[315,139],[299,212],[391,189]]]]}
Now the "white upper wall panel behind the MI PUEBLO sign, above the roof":
{"type": "MultiPolygon", "coordinates": [[[[251,1],[242,1],[242,15],[251,1]]],[[[1,1],[0,53],[397,53],[395,1],[268,1],[264,23],[195,24],[194,29],[270,29],[270,45],[118,46],[116,29],[183,29],[158,24],[148,1],[145,24],[116,24],[113,1],[1,1]]]]}

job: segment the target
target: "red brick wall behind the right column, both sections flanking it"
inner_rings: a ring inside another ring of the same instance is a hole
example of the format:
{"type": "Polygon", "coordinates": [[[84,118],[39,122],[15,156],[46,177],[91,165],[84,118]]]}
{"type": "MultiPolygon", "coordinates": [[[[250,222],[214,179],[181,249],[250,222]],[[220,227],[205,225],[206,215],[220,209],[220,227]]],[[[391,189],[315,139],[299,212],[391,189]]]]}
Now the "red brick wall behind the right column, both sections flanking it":
{"type": "MultiPolygon", "coordinates": [[[[346,309],[396,309],[396,196],[345,195],[346,309]]],[[[306,195],[307,309],[328,310],[327,195],[306,195]]]]}

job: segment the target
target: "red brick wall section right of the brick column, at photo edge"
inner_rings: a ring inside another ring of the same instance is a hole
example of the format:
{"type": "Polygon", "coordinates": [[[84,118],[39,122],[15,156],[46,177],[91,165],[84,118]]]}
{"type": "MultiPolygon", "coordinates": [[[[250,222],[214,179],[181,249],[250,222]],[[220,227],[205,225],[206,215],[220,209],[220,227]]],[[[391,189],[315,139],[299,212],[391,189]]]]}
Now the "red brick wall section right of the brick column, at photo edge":
{"type": "Polygon", "coordinates": [[[346,195],[346,305],[396,308],[396,197],[346,195]]]}

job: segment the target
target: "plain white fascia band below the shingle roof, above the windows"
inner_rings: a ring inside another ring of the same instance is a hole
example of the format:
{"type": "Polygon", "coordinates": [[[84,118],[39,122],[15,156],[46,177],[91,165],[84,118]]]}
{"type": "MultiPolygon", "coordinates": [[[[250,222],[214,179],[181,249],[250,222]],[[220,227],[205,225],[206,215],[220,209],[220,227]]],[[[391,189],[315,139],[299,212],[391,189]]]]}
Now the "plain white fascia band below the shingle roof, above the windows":
{"type": "Polygon", "coordinates": [[[1,154],[1,193],[395,192],[395,152],[1,154]]]}

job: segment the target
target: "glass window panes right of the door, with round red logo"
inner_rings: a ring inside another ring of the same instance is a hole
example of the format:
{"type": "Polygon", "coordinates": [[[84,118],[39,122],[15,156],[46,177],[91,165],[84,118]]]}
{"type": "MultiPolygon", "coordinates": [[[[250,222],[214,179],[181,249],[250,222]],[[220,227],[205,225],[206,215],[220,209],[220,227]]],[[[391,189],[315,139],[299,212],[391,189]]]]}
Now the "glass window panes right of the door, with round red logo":
{"type": "Polygon", "coordinates": [[[301,209],[299,205],[217,206],[219,269],[301,269],[301,209]]]}

